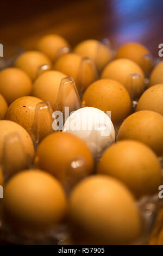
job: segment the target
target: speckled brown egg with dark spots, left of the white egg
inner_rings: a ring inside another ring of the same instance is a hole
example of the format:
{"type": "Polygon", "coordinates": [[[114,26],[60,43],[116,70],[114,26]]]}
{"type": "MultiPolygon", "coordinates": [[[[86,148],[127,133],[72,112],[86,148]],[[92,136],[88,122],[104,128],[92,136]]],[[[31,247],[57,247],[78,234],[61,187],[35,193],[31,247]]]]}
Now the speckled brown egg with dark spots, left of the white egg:
{"type": "Polygon", "coordinates": [[[8,107],[5,119],[20,124],[30,132],[33,126],[36,105],[41,101],[32,96],[20,97],[8,107]]]}

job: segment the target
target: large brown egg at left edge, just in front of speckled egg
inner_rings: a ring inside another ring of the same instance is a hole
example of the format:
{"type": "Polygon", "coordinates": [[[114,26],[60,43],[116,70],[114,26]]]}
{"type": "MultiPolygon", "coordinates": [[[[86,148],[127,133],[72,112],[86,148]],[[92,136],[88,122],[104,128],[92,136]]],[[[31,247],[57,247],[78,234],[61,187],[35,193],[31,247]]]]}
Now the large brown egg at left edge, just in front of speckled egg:
{"type": "MultiPolygon", "coordinates": [[[[6,140],[10,137],[11,142],[11,136],[16,134],[18,138],[20,138],[20,143],[22,145],[23,152],[26,153],[31,159],[34,157],[34,146],[32,139],[30,138],[28,132],[20,125],[9,121],[9,120],[0,120],[0,161],[2,161],[3,150],[6,140]]],[[[14,143],[14,141],[13,141],[14,143]]],[[[7,147],[7,145],[6,145],[7,147]]],[[[8,162],[9,166],[13,162],[13,160],[18,160],[18,166],[24,166],[24,158],[23,153],[20,152],[20,149],[13,148],[13,147],[7,147],[7,152],[5,157],[9,157],[8,161],[5,159],[5,161],[8,162]],[[14,150],[14,151],[13,151],[14,150]]]]}

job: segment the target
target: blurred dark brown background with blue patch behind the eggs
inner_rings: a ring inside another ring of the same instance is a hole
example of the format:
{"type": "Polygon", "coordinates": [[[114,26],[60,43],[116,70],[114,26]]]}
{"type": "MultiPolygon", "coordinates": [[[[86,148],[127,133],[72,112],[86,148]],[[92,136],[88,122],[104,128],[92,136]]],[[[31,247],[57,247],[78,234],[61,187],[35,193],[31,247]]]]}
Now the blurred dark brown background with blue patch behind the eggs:
{"type": "Polygon", "coordinates": [[[73,47],[84,39],[139,41],[155,56],[163,43],[161,0],[59,0],[1,2],[0,42],[34,47],[43,34],[58,33],[73,47]]]}

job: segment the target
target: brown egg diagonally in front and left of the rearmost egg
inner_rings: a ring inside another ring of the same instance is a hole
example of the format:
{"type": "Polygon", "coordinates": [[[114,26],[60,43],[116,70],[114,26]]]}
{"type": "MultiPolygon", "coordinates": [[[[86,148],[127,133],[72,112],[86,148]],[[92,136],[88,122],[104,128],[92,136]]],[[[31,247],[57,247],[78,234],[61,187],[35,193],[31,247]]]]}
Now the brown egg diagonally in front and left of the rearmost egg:
{"type": "Polygon", "coordinates": [[[24,52],[15,62],[15,66],[25,71],[32,80],[36,78],[42,65],[51,65],[51,61],[44,53],[39,51],[24,52]]]}

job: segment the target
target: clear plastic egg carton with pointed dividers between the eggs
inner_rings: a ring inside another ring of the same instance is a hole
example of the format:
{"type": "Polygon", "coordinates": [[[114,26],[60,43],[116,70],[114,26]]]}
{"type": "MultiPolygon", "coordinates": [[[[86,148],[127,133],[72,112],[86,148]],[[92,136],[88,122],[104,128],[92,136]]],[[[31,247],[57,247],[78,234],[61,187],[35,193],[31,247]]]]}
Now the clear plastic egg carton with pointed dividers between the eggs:
{"type": "MultiPolygon", "coordinates": [[[[110,46],[110,42],[108,39],[102,40],[102,42],[99,44],[99,48],[101,47],[101,44],[105,44],[108,47],[110,46]]],[[[97,57],[98,57],[98,49],[97,48],[97,57]]],[[[116,47],[111,48],[112,52],[112,58],[115,56],[115,50],[116,47]]],[[[70,49],[67,47],[61,48],[58,52],[58,57],[60,54],[65,54],[70,52],[70,49]]],[[[20,54],[20,52],[18,53],[20,54]]],[[[152,56],[145,55],[142,58],[144,58],[147,65],[154,66],[155,64],[159,63],[160,59],[154,59],[152,56]]],[[[80,97],[82,96],[84,92],[85,87],[85,81],[86,81],[86,68],[87,66],[90,67],[92,70],[93,78],[92,81],[95,81],[99,78],[99,72],[96,70],[95,64],[93,63],[91,58],[83,58],[82,63],[80,65],[79,70],[79,81],[78,89],[76,88],[76,84],[72,77],[66,77],[61,81],[60,89],[58,93],[58,99],[55,103],[55,110],[62,112],[63,117],[65,118],[65,107],[70,107],[71,111],[76,111],[79,108],[85,107],[82,105],[80,97]],[[72,98],[73,98],[73,104],[72,104],[72,98]]],[[[5,66],[3,66],[5,68],[5,66]]],[[[38,70],[38,76],[42,74],[42,72],[46,70],[50,70],[51,67],[47,65],[40,66],[38,70]]],[[[149,75],[149,74],[148,74],[149,75]]],[[[126,87],[130,86],[133,88],[133,91],[135,90],[137,82],[141,82],[146,84],[146,88],[148,87],[148,75],[146,75],[145,81],[142,81],[142,78],[139,74],[130,74],[128,77],[126,87]]],[[[89,81],[90,83],[90,81],[89,81]]],[[[133,112],[135,111],[135,107],[137,105],[136,98],[133,97],[133,94],[131,92],[130,97],[133,101],[133,112]]],[[[57,118],[55,115],[53,115],[52,107],[49,102],[44,101],[37,105],[36,111],[35,111],[35,117],[34,117],[34,123],[32,130],[30,132],[30,136],[33,139],[34,147],[37,148],[37,145],[40,143],[40,141],[45,138],[47,135],[49,135],[52,132],[55,132],[54,126],[49,127],[49,129],[42,130],[43,123],[46,119],[49,120],[49,122],[56,127],[55,119],[57,118]]],[[[106,128],[105,126],[103,127],[106,128]]],[[[57,130],[57,129],[56,129],[57,130]]],[[[116,129],[116,132],[118,131],[118,127],[116,129]]],[[[13,135],[12,135],[13,137],[13,135]]],[[[90,142],[91,143],[91,142],[90,142]]],[[[98,144],[98,139],[96,141],[96,144],[98,144]]],[[[96,156],[94,158],[95,161],[95,169],[96,169],[96,163],[101,157],[103,151],[96,152],[96,156]]],[[[163,161],[162,158],[160,158],[161,166],[162,166],[162,173],[163,173],[163,161]]],[[[77,182],[81,179],[83,179],[85,175],[78,176],[78,172],[84,167],[84,161],[83,159],[74,159],[71,163],[67,164],[67,179],[64,184],[62,184],[65,188],[65,191],[68,194],[70,193],[72,187],[77,184],[77,182]],[[76,164],[74,164],[76,163],[76,164]],[[76,173],[75,178],[71,179],[71,175],[76,173]]],[[[3,148],[3,159],[2,159],[2,169],[4,173],[4,180],[7,181],[10,179],[12,175],[14,175],[17,172],[20,172],[24,168],[33,168],[33,162],[32,159],[30,159],[30,156],[24,151],[22,147],[22,143],[20,141],[20,138],[17,136],[17,134],[14,134],[14,140],[11,139],[11,137],[6,138],[3,148]],[[17,163],[17,160],[15,159],[14,162],[9,166],[8,164],[8,148],[14,148],[17,147],[19,151],[22,152],[22,165],[19,165],[17,163]],[[7,174],[7,175],[6,175],[7,174]]],[[[163,179],[162,179],[163,180],[163,179]]],[[[159,193],[159,191],[158,191],[159,193]]],[[[131,245],[144,245],[148,243],[149,236],[151,235],[152,229],[154,227],[154,223],[156,220],[156,216],[158,214],[159,209],[162,206],[161,199],[158,197],[158,193],[156,193],[154,196],[151,197],[143,197],[140,200],[137,200],[136,204],[140,210],[140,215],[142,219],[142,231],[140,234],[140,237],[136,239],[135,241],[131,242],[131,245]]],[[[17,231],[17,230],[16,230],[17,231]]],[[[14,229],[12,229],[7,221],[4,220],[4,218],[1,218],[1,231],[0,236],[2,241],[6,241],[8,243],[14,243],[14,244],[24,244],[24,245],[73,245],[73,241],[71,240],[70,231],[68,229],[68,224],[64,223],[61,225],[57,225],[55,227],[52,227],[50,230],[43,231],[43,232],[36,232],[32,233],[30,230],[18,230],[16,232],[14,229]]]]}

